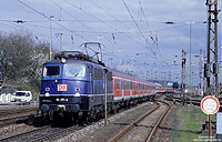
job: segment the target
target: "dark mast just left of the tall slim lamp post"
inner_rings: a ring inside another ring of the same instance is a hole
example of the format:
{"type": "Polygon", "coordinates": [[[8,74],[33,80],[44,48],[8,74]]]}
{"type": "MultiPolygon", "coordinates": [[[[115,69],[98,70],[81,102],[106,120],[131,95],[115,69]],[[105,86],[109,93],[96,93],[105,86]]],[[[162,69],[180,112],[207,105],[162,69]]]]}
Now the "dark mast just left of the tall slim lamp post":
{"type": "Polygon", "coordinates": [[[183,103],[184,103],[184,89],[185,89],[185,51],[182,50],[182,74],[181,74],[181,88],[182,88],[182,97],[183,97],[183,103]]]}

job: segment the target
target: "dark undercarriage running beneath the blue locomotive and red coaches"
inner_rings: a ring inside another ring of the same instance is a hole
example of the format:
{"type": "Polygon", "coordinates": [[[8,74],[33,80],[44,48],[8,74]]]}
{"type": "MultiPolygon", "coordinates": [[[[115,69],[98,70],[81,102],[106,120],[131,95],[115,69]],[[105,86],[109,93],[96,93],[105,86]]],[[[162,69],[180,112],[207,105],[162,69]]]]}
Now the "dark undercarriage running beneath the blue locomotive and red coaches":
{"type": "MultiPolygon", "coordinates": [[[[114,114],[121,109],[130,109],[139,103],[153,100],[154,95],[121,100],[109,102],[107,104],[107,113],[114,114]]],[[[44,116],[51,124],[72,123],[84,125],[104,118],[104,105],[97,104],[90,106],[88,110],[81,110],[79,104],[42,104],[40,105],[41,115],[44,116]]]]}

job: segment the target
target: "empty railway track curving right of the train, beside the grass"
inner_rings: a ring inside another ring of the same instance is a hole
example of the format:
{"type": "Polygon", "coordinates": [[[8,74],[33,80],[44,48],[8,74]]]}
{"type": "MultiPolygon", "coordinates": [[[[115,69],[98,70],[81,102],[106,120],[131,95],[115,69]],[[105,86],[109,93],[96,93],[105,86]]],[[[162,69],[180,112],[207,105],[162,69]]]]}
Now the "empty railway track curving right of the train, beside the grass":
{"type": "Polygon", "coordinates": [[[139,118],[135,122],[131,123],[110,140],[110,142],[151,141],[159,124],[162,122],[170,108],[171,106],[168,103],[159,101],[158,106],[139,118]]]}

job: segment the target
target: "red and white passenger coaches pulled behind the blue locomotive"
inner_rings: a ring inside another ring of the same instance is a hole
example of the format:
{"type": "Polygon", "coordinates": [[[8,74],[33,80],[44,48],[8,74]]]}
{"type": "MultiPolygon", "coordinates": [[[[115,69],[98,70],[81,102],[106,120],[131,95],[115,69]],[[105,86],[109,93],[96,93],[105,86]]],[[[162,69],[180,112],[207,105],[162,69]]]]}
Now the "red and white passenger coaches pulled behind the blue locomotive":
{"type": "Polygon", "coordinates": [[[153,83],[121,73],[112,73],[114,100],[131,100],[155,94],[153,83]]]}

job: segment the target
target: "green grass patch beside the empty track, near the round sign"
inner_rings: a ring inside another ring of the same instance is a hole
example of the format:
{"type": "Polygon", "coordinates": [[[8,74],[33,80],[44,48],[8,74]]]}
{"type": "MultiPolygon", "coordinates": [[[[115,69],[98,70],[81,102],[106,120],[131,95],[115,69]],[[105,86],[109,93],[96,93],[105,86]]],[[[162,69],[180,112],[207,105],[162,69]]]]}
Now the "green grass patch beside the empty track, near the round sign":
{"type": "MultiPolygon", "coordinates": [[[[206,116],[200,108],[180,106],[174,118],[172,142],[192,142],[199,136],[208,136],[201,133],[206,116]]],[[[212,115],[212,120],[215,121],[215,115],[212,115]]]]}

